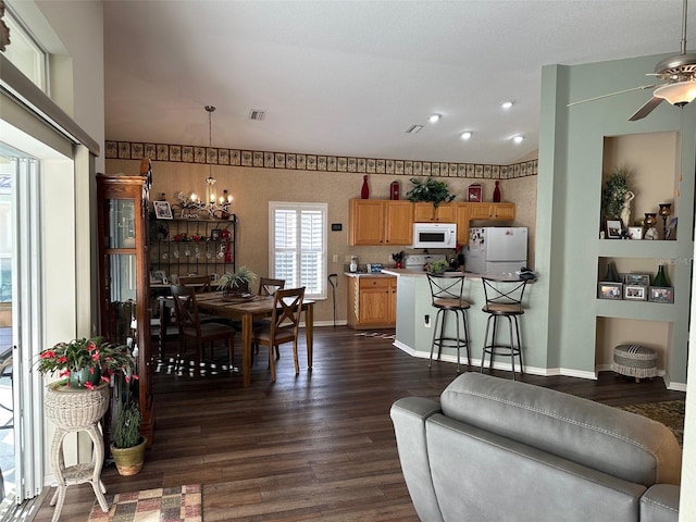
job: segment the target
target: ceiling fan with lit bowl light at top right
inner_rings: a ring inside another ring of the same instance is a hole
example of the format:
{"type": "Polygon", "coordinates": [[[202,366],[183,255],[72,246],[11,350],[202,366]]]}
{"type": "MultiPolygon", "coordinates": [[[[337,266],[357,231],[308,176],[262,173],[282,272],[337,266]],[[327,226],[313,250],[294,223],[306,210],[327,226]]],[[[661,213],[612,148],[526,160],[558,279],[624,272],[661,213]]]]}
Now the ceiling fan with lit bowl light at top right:
{"type": "Polygon", "coordinates": [[[595,98],[588,98],[586,100],[574,101],[569,103],[568,107],[576,105],[579,103],[585,103],[587,101],[595,101],[610,96],[622,95],[624,92],[631,92],[633,90],[645,90],[656,87],[652,91],[652,98],[650,98],[641,109],[638,109],[629,121],[635,122],[647,116],[652,110],[655,110],[663,100],[678,107],[684,107],[686,103],[696,98],[696,53],[686,52],[686,13],[687,13],[688,0],[684,0],[683,15],[682,15],[682,52],[676,57],[666,58],[658,62],[655,66],[655,72],[648,74],[648,76],[655,76],[658,79],[664,82],[664,84],[643,85],[639,87],[633,87],[631,89],[619,90],[617,92],[610,92],[608,95],[597,96],[595,98]]]}

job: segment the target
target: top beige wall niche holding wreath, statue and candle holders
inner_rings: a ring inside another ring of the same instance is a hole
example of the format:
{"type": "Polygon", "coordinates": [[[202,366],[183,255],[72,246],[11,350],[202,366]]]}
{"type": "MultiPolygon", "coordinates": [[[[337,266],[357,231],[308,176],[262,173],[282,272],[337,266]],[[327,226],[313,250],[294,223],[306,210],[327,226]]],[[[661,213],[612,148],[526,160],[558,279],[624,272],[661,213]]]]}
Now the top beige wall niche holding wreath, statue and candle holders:
{"type": "MultiPolygon", "coordinates": [[[[670,220],[679,214],[679,136],[670,133],[630,134],[605,137],[602,158],[602,188],[606,179],[617,170],[629,172],[627,187],[633,192],[630,223],[641,226],[645,213],[658,213],[659,203],[671,203],[670,220]]],[[[600,191],[601,197],[601,191],[600,191]]],[[[606,223],[601,217],[601,231],[606,223]]],[[[662,217],[657,215],[655,227],[662,239],[662,217]]],[[[671,237],[674,239],[674,237],[671,237]]]]}

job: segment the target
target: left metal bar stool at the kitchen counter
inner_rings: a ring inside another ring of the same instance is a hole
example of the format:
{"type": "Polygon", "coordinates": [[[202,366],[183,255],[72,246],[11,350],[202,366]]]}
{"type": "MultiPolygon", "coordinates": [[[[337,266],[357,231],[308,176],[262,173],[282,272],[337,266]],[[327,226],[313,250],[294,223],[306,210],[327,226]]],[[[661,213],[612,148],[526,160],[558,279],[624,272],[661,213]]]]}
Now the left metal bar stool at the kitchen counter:
{"type": "Polygon", "coordinates": [[[469,353],[469,323],[467,322],[467,310],[471,304],[463,299],[464,276],[463,275],[433,275],[427,274],[427,282],[431,285],[431,296],[433,308],[437,309],[435,315],[435,326],[433,328],[433,344],[431,345],[431,358],[427,368],[433,364],[433,351],[437,346],[437,360],[443,353],[443,347],[457,348],[457,373],[459,373],[459,351],[461,347],[467,348],[467,364],[471,364],[469,353]],[[447,337],[445,334],[445,323],[447,313],[455,313],[455,324],[457,325],[457,337],[447,337]],[[461,319],[461,321],[460,321],[461,319]],[[459,324],[464,327],[462,338],[459,324]],[[437,326],[439,324],[439,332],[437,326]]]}

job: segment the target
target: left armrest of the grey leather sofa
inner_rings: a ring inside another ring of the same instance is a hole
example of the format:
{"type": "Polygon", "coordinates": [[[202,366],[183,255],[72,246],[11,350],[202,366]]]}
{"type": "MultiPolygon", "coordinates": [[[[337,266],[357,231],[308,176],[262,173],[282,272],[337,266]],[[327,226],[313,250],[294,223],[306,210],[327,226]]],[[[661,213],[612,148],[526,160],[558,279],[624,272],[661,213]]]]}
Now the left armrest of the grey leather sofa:
{"type": "Polygon", "coordinates": [[[406,397],[397,400],[390,412],[409,495],[419,518],[428,522],[443,521],[433,487],[425,433],[425,421],[439,411],[437,402],[406,397]]]}

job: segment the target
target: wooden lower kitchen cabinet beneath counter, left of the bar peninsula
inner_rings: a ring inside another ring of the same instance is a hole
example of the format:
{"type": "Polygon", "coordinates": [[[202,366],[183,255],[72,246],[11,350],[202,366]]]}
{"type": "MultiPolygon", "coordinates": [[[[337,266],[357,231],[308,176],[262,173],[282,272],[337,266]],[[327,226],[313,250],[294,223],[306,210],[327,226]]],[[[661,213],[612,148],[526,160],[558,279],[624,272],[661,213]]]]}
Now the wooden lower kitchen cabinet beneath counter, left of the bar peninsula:
{"type": "Polygon", "coordinates": [[[348,278],[348,326],[355,330],[396,326],[396,277],[348,278]]]}

